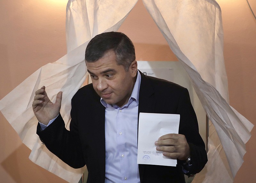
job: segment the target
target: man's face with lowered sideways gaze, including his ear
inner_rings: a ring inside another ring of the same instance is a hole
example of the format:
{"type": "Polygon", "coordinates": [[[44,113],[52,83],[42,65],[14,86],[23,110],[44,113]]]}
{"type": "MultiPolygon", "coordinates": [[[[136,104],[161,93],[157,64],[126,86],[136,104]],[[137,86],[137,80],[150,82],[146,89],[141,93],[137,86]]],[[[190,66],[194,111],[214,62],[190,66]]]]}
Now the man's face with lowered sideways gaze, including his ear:
{"type": "Polygon", "coordinates": [[[132,95],[136,80],[137,61],[133,61],[126,72],[123,65],[117,65],[114,51],[108,51],[96,62],[86,62],[94,90],[108,104],[122,107],[132,95]]]}

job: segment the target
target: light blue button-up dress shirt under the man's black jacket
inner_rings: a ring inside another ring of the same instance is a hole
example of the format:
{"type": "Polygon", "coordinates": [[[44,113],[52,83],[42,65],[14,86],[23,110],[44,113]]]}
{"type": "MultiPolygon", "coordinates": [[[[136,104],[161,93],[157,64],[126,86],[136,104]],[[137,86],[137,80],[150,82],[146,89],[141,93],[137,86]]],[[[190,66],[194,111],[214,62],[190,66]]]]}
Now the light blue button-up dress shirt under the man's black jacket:
{"type": "Polygon", "coordinates": [[[102,98],[105,109],[106,173],[105,183],[140,183],[137,164],[138,108],[140,72],[127,104],[109,105],[102,98]]]}

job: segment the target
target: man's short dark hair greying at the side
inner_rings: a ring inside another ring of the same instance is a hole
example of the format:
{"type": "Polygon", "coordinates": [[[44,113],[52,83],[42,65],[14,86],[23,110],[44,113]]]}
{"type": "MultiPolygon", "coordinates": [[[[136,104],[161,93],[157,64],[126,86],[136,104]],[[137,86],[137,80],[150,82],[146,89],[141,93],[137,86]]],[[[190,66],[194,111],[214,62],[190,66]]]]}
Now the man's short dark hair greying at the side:
{"type": "Polygon", "coordinates": [[[115,52],[117,64],[123,65],[128,71],[136,59],[135,49],[129,37],[121,32],[101,33],[92,38],[85,50],[85,61],[96,62],[110,50],[115,52]]]}

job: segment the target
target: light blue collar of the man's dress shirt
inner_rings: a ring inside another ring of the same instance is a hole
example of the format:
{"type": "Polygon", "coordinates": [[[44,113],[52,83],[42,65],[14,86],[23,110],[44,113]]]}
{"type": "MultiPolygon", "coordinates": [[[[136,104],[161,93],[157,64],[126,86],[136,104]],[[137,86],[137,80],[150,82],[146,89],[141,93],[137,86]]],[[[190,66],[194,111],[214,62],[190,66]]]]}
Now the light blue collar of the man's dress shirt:
{"type": "MultiPolygon", "coordinates": [[[[126,103],[124,106],[128,106],[133,100],[136,102],[136,105],[138,106],[139,104],[139,92],[140,92],[140,81],[141,81],[141,75],[140,72],[137,71],[137,78],[132,90],[132,95],[130,96],[128,103],[126,103]]],[[[103,98],[100,98],[100,102],[104,107],[115,107],[118,108],[117,105],[113,104],[113,105],[109,105],[108,103],[106,103],[103,98]]]]}

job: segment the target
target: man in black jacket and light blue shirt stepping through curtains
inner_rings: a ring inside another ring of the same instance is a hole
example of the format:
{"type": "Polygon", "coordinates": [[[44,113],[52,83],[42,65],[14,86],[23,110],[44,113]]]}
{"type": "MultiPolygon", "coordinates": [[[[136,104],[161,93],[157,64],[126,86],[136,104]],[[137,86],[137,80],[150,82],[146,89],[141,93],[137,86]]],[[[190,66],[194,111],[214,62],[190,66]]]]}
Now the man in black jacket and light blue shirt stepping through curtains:
{"type": "Polygon", "coordinates": [[[87,165],[87,182],[185,182],[207,162],[188,90],[137,70],[132,41],[123,33],[95,36],[85,50],[92,84],[72,98],[70,131],[60,115],[62,93],[52,103],[45,87],[36,91],[37,134],[71,167],[87,165]],[[137,164],[140,112],[180,114],[179,134],[156,139],[156,150],[178,159],[176,167],[137,164]],[[47,126],[47,127],[46,127],[47,126]]]}

